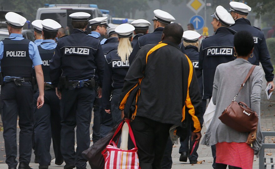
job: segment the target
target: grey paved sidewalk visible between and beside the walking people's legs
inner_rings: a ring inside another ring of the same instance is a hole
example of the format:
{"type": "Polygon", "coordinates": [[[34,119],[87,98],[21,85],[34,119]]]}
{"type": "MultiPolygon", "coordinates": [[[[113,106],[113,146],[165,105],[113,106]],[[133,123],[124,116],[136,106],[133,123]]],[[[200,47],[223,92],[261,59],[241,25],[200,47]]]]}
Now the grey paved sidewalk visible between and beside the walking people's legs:
{"type": "MultiPolygon", "coordinates": [[[[266,82],[263,82],[263,87],[265,87],[266,82]]],[[[262,101],[261,101],[261,127],[262,127],[262,131],[270,131],[270,132],[274,132],[275,131],[275,95],[273,94],[271,97],[271,100],[267,100],[266,95],[264,93],[264,90],[262,90],[262,101]]],[[[1,118],[0,118],[0,122],[1,122],[1,118]]],[[[93,121],[91,123],[91,128],[92,128],[92,124],[93,121]]],[[[202,137],[205,133],[206,129],[205,127],[202,128],[202,137]]],[[[18,133],[19,133],[19,128],[17,128],[17,137],[18,137],[18,133]]],[[[91,130],[92,133],[92,130],[91,130]]],[[[17,138],[17,142],[18,142],[18,138],[17,138]]],[[[274,144],[275,142],[275,137],[266,137],[265,138],[265,142],[266,143],[271,143],[274,144]]],[[[5,164],[5,157],[3,157],[5,155],[5,151],[4,151],[4,140],[3,140],[3,136],[2,136],[2,132],[0,132],[0,169],[8,169],[8,166],[5,164]],[[3,150],[3,151],[2,151],[3,150]]],[[[211,148],[207,147],[207,146],[203,146],[200,145],[198,148],[198,154],[199,154],[199,158],[198,161],[204,161],[202,162],[202,164],[195,164],[195,165],[191,165],[188,162],[179,162],[179,157],[180,154],[178,153],[178,149],[179,149],[180,145],[174,145],[173,147],[173,152],[172,152],[172,158],[173,158],[173,166],[172,169],[212,169],[212,152],[211,152],[211,148]]],[[[272,156],[275,155],[275,150],[274,149],[266,149],[265,150],[265,157],[270,158],[272,156]],[[272,153],[271,156],[267,156],[267,153],[272,153]]],[[[51,154],[52,157],[54,157],[53,155],[53,149],[51,148],[51,154]]],[[[30,163],[30,166],[33,169],[38,169],[38,164],[35,164],[33,162],[34,156],[32,155],[32,161],[30,163]]],[[[253,169],[258,169],[259,168],[259,159],[254,157],[254,162],[253,162],[253,169]]],[[[61,166],[57,166],[54,164],[54,160],[51,163],[51,166],[49,166],[49,169],[51,168],[58,168],[61,169],[63,168],[65,165],[65,163],[63,163],[63,165],[61,166]]],[[[87,165],[87,168],[90,168],[89,165],[87,165]]],[[[267,169],[271,168],[267,166],[267,169]]]]}

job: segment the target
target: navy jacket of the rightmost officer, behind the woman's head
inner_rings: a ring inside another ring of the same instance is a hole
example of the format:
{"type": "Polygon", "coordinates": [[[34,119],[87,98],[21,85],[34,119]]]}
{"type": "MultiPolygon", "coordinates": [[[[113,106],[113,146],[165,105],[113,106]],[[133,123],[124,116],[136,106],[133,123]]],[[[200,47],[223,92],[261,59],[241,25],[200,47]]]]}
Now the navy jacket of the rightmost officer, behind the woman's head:
{"type": "Polygon", "coordinates": [[[248,58],[248,61],[253,65],[259,65],[259,62],[261,62],[266,80],[268,82],[272,81],[274,78],[274,75],[272,74],[273,66],[270,61],[270,55],[267,50],[267,44],[263,32],[256,27],[252,27],[249,20],[245,18],[236,19],[235,24],[230,28],[237,32],[245,30],[252,34],[255,44],[253,51],[254,56],[248,58]]]}

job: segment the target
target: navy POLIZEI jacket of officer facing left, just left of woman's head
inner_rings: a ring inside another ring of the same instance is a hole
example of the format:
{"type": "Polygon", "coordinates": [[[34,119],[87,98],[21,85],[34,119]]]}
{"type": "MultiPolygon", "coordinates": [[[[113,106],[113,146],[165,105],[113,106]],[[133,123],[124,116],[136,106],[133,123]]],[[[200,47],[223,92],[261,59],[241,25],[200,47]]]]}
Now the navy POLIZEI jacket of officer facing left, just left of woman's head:
{"type": "Polygon", "coordinates": [[[212,97],[216,68],[221,63],[234,60],[234,34],[228,27],[219,27],[213,36],[202,40],[199,52],[199,70],[202,74],[202,99],[212,97]]]}

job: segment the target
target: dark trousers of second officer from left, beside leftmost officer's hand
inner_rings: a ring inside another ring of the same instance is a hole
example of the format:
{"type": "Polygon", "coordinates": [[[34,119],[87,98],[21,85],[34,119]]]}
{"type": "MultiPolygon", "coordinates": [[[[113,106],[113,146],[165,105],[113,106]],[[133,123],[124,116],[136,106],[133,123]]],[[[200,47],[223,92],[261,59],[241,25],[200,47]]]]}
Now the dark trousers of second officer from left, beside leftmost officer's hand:
{"type": "MultiPolygon", "coordinates": [[[[39,92],[34,94],[34,105],[36,105],[38,95],[39,92]]],[[[34,138],[39,165],[47,166],[51,162],[50,146],[52,138],[56,161],[62,161],[63,157],[60,149],[60,100],[54,89],[44,91],[44,101],[42,108],[34,108],[34,138]]]]}

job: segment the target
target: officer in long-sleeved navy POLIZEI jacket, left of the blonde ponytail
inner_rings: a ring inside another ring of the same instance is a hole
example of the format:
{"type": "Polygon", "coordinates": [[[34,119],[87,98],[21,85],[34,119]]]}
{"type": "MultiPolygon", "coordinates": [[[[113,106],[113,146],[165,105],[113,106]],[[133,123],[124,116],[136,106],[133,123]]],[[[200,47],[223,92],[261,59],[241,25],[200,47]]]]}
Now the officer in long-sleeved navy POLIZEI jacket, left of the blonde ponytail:
{"type": "MultiPolygon", "coordinates": [[[[69,17],[72,18],[73,32],[58,40],[55,55],[50,61],[50,78],[61,99],[61,152],[66,162],[64,169],[81,169],[86,168],[87,162],[81,153],[90,146],[95,82],[102,86],[105,61],[99,40],[87,36],[85,31],[90,14],[75,12],[69,17]]],[[[98,91],[101,96],[101,89],[98,91]]]]}

